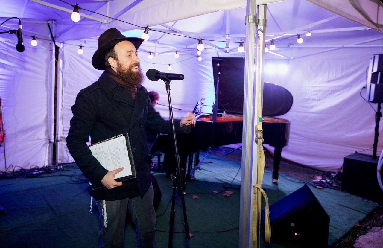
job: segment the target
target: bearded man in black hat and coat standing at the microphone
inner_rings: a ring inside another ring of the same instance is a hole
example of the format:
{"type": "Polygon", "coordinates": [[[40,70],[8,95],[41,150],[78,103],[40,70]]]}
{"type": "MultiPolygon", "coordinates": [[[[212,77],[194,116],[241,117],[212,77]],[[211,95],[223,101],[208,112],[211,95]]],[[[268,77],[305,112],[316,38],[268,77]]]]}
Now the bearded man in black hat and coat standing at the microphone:
{"type": "MultiPolygon", "coordinates": [[[[92,65],[104,72],[97,82],[80,90],[72,106],[67,136],[69,152],[93,185],[105,186],[90,189],[103,217],[104,225],[99,233],[101,247],[123,246],[127,209],[136,225],[139,246],[155,247],[154,193],[147,166],[146,129],[169,134],[171,124],[154,110],[147,90],[141,86],[137,49],[143,41],[126,38],[115,28],[101,34],[92,65]],[[114,176],[123,168],[106,170],[93,157],[87,142],[89,136],[94,144],[126,132],[131,138],[137,178],[117,182],[114,176]]],[[[175,121],[177,132],[189,132],[192,125],[195,125],[192,113],[175,121]]]]}

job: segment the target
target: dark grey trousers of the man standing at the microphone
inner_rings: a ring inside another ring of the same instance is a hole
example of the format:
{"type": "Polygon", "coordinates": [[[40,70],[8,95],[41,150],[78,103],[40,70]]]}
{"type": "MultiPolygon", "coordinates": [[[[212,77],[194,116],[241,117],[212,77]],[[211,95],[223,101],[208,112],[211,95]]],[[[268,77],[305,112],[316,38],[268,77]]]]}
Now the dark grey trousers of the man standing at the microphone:
{"type": "Polygon", "coordinates": [[[98,233],[99,247],[123,247],[126,211],[132,215],[136,225],[137,243],[139,247],[156,247],[155,245],[155,211],[153,207],[153,186],[141,199],[140,196],[118,201],[97,201],[102,228],[98,233]],[[106,227],[105,227],[106,210],[106,227]]]}

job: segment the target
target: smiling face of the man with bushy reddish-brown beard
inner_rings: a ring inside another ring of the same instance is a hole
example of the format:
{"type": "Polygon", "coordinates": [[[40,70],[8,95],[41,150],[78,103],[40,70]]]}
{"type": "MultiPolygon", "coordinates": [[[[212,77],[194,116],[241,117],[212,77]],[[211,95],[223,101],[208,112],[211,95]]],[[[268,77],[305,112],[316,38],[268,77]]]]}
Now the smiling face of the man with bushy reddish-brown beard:
{"type": "Polygon", "coordinates": [[[137,86],[142,82],[140,60],[137,50],[130,41],[121,41],[115,46],[117,55],[116,72],[118,77],[129,86],[137,86]]]}

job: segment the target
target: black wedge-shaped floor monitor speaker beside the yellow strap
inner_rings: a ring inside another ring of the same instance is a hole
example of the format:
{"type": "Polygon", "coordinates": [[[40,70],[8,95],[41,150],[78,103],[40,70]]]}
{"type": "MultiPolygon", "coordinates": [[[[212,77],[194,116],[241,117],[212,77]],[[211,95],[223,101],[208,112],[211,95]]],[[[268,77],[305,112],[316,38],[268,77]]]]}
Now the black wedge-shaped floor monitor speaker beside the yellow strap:
{"type": "Polygon", "coordinates": [[[327,247],[330,217],[306,184],[272,204],[269,210],[272,243],[327,247]]]}

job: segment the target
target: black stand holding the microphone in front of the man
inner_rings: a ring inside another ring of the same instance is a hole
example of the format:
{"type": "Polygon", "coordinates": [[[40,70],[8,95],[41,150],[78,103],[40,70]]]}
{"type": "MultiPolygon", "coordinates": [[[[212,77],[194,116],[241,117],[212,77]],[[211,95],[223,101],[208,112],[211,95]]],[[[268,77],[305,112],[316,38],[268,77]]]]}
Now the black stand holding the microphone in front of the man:
{"type": "Polygon", "coordinates": [[[181,202],[182,202],[182,212],[183,212],[183,221],[185,226],[185,235],[186,238],[190,238],[189,233],[189,224],[186,214],[186,206],[185,206],[185,197],[183,195],[183,184],[182,184],[182,175],[183,175],[183,168],[180,168],[180,158],[178,155],[178,147],[177,147],[177,139],[175,137],[175,126],[174,126],[174,118],[173,118],[173,109],[172,109],[172,100],[170,99],[170,81],[167,77],[162,77],[161,80],[165,82],[166,85],[166,92],[168,95],[168,101],[169,101],[169,112],[170,112],[170,121],[172,123],[172,131],[173,131],[173,142],[174,142],[174,148],[175,148],[175,157],[177,161],[177,170],[176,173],[171,175],[170,178],[173,182],[173,195],[172,195],[172,210],[170,211],[170,220],[169,220],[169,245],[168,247],[172,247],[172,241],[173,241],[173,227],[174,227],[174,216],[175,216],[175,192],[177,189],[177,184],[180,188],[180,195],[181,195],[181,202]]]}

